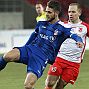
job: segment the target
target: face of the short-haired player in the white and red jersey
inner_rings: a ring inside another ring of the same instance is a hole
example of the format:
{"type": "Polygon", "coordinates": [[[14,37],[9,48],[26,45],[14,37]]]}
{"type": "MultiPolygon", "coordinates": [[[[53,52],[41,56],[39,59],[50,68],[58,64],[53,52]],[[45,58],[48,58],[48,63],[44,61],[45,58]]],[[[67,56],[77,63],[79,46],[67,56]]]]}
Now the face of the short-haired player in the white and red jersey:
{"type": "Polygon", "coordinates": [[[69,9],[68,9],[69,21],[77,22],[80,15],[81,15],[81,13],[80,13],[80,10],[78,9],[77,5],[69,6],[69,9]]]}

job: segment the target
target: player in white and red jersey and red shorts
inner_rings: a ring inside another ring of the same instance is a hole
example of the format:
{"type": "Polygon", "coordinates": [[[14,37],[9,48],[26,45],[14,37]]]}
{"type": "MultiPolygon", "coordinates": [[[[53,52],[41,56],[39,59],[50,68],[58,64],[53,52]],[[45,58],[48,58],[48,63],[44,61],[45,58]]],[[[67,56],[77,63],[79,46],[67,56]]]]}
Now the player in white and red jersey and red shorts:
{"type": "Polygon", "coordinates": [[[65,27],[71,27],[73,33],[82,37],[84,46],[79,48],[71,38],[62,43],[55,62],[49,68],[45,89],[52,89],[56,82],[55,89],[64,89],[68,83],[74,84],[78,77],[85,52],[86,36],[89,37],[89,25],[79,18],[81,12],[80,4],[71,3],[68,9],[69,21],[61,22],[61,24],[65,27]]]}

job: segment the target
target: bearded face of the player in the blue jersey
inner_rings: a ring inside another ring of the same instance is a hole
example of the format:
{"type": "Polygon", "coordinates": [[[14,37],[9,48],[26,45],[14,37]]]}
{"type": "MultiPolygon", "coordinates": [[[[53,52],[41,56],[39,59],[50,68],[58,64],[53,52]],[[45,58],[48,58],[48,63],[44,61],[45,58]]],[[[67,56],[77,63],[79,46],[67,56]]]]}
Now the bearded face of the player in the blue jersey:
{"type": "Polygon", "coordinates": [[[46,18],[47,21],[51,22],[55,19],[55,11],[52,8],[46,7],[46,18]]]}

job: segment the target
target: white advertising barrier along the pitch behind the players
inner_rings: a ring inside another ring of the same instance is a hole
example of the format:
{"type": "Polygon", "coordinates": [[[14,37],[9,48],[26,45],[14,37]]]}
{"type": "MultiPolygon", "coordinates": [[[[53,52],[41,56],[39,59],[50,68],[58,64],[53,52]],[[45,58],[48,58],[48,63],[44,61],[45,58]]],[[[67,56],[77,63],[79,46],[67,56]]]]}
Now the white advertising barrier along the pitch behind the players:
{"type": "MultiPolygon", "coordinates": [[[[33,29],[0,30],[0,54],[6,53],[15,46],[23,46],[32,32],[33,29]]],[[[89,50],[89,39],[87,39],[86,49],[89,50]]]]}

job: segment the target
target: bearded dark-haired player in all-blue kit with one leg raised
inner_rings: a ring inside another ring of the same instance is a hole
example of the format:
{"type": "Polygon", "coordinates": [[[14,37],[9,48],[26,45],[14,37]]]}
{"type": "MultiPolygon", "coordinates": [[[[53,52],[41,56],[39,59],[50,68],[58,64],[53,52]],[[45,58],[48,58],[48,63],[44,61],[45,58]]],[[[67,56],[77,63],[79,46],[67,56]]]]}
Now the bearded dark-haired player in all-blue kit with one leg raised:
{"type": "Polygon", "coordinates": [[[47,63],[54,61],[60,45],[66,38],[71,37],[79,47],[82,46],[80,37],[72,34],[70,28],[58,23],[59,12],[60,4],[57,1],[49,1],[46,7],[47,21],[38,22],[35,31],[23,47],[15,47],[0,58],[0,70],[4,69],[8,62],[27,65],[25,89],[34,88],[47,63]]]}

